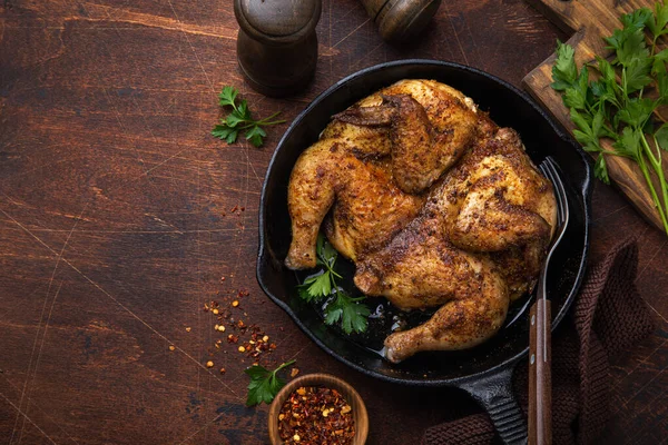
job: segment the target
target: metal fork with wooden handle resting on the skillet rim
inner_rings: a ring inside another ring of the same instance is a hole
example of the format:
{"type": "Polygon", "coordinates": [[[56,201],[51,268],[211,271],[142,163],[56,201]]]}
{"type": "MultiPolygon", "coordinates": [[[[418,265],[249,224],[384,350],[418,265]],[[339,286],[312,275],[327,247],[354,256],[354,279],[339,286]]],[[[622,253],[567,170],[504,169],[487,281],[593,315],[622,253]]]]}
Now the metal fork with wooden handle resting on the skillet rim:
{"type": "Polygon", "coordinates": [[[552,254],[563,238],[569,210],[566,189],[551,157],[539,166],[553,186],[557,198],[557,230],[538,278],[536,303],[531,306],[529,346],[529,445],[552,443],[551,310],[546,289],[552,254]]]}

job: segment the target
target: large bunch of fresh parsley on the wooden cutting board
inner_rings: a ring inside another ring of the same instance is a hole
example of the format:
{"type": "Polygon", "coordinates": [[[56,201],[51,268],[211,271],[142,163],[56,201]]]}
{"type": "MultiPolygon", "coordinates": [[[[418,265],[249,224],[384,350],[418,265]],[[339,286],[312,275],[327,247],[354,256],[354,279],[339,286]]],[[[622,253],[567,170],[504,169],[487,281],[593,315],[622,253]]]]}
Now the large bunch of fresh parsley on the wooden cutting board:
{"type": "Polygon", "coordinates": [[[622,28],[605,39],[615,51],[611,62],[597,57],[596,66],[578,71],[573,48],[557,42],[552,88],[562,92],[578,142],[599,154],[596,177],[610,184],[603,154],[636,161],[668,234],[668,185],[661,166],[661,150],[668,150],[668,125],[652,118],[658,107],[668,105],[668,50],[657,52],[659,38],[668,33],[668,6],[657,2],[654,11],[641,8],[621,16],[620,21],[622,28]],[[589,68],[598,73],[597,80],[589,80],[589,68]],[[611,146],[603,147],[602,139],[609,139],[611,146]],[[658,190],[651,171],[658,178],[658,190]]]}

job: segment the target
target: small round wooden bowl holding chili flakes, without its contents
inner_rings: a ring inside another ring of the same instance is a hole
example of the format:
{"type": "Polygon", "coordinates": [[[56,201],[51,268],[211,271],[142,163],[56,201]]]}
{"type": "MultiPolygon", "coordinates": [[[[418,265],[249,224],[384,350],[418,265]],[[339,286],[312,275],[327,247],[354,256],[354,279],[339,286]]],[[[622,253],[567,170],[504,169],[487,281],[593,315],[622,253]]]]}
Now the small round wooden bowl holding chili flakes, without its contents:
{"type": "Polygon", "coordinates": [[[369,416],[366,414],[366,406],[360,394],[347,383],[338,377],[334,377],[328,374],[307,374],[302,377],[297,377],[294,380],[285,385],[272,402],[269,407],[269,439],[272,445],[282,445],[283,441],[278,434],[278,414],[283,404],[289,395],[297,390],[302,386],[322,386],[326,388],[336,389],[345,397],[347,403],[353,408],[352,413],[355,419],[355,436],[353,437],[353,445],[364,445],[366,442],[366,435],[369,434],[369,416]]]}

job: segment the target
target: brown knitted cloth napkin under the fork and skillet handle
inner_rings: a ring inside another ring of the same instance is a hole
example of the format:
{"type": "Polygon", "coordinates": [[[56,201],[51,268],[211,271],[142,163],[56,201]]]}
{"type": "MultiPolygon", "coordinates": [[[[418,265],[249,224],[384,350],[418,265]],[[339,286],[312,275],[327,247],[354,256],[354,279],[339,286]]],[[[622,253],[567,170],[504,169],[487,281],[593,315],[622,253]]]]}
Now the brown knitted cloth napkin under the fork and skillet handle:
{"type": "MultiPolygon", "coordinates": [[[[559,444],[591,444],[609,416],[609,362],[654,330],[636,289],[638,246],[621,241],[589,268],[573,308],[552,338],[552,438],[559,444]]],[[[514,394],[527,412],[528,375],[514,373],[514,394]]],[[[498,439],[498,438],[497,438],[498,439]]],[[[422,445],[489,445],[494,429],[475,414],[426,429],[422,445]]]]}

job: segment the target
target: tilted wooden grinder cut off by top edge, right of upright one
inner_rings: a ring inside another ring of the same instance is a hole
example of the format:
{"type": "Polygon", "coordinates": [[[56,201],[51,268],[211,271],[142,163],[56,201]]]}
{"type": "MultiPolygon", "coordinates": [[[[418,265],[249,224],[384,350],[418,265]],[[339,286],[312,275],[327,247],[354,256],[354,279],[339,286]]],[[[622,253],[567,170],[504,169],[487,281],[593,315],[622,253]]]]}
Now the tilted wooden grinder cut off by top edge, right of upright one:
{"type": "Polygon", "coordinates": [[[406,42],[426,27],[441,0],[362,0],[362,3],[384,40],[406,42]]]}

